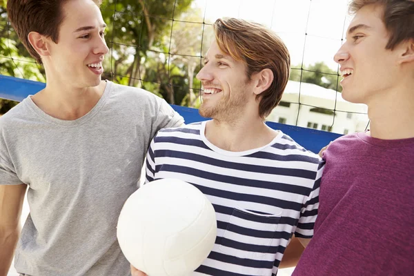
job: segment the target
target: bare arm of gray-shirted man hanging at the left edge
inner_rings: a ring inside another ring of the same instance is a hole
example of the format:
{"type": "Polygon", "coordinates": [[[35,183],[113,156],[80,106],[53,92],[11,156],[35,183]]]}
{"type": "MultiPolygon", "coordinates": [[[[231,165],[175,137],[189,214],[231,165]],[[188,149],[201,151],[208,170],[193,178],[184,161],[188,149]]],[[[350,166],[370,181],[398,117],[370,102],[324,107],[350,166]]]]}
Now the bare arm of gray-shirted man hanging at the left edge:
{"type": "Polygon", "coordinates": [[[26,184],[0,186],[0,276],[6,276],[12,264],[26,188],[26,184]]]}

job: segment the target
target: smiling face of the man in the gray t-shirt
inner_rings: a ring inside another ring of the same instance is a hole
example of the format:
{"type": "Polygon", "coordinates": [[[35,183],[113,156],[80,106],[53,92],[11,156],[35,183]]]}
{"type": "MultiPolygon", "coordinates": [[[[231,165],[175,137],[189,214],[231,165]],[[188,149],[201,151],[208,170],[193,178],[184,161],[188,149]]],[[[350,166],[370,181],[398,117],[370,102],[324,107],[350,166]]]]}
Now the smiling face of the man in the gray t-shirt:
{"type": "Polygon", "coordinates": [[[101,12],[91,0],[67,1],[62,11],[59,40],[54,43],[49,39],[50,55],[43,58],[45,68],[61,83],[78,88],[97,86],[103,56],[108,53],[101,12]]]}

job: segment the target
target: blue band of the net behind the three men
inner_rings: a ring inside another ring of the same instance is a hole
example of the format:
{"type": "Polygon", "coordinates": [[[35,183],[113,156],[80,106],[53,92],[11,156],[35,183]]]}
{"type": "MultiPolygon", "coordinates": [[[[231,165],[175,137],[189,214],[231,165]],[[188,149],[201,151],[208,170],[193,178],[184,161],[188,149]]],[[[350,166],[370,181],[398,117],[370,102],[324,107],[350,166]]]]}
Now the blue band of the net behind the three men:
{"type": "MultiPolygon", "coordinates": [[[[39,81],[30,81],[27,79],[18,79],[0,75],[0,98],[12,99],[14,101],[22,101],[28,95],[34,95],[45,87],[45,83],[39,81]]],[[[184,106],[172,105],[179,114],[184,117],[187,124],[195,121],[204,121],[206,118],[201,117],[195,108],[187,108],[184,106]]],[[[285,124],[277,124],[266,122],[270,128],[282,130],[284,133],[292,137],[297,143],[304,146],[312,152],[319,152],[321,148],[329,144],[330,141],[337,139],[341,135],[332,132],[324,132],[321,130],[313,130],[310,128],[302,128],[299,126],[288,126],[285,124]]]]}

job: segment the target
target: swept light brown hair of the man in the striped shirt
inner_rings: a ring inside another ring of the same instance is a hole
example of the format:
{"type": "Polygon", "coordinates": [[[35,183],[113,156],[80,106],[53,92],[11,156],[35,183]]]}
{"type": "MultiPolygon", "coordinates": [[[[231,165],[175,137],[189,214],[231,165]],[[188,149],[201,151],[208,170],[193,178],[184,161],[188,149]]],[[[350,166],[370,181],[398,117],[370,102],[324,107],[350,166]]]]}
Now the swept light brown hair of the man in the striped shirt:
{"type": "Polygon", "coordinates": [[[242,19],[217,19],[214,23],[217,44],[226,55],[244,61],[247,77],[266,68],[273,72],[273,82],[257,95],[259,115],[267,117],[277,106],[290,74],[290,55],[282,39],[272,30],[258,23],[242,19]]]}

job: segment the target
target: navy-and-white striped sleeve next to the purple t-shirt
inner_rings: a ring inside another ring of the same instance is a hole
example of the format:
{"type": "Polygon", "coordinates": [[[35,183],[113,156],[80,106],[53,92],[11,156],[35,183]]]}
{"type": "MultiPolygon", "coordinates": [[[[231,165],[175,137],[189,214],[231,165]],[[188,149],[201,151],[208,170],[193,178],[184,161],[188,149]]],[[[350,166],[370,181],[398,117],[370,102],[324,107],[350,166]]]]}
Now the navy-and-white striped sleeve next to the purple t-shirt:
{"type": "Polygon", "coordinates": [[[313,228],[315,227],[317,209],[319,208],[319,186],[321,183],[322,172],[324,171],[324,165],[324,161],[319,161],[313,188],[302,206],[295,232],[296,237],[305,239],[311,239],[313,237],[313,228]]]}

